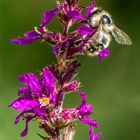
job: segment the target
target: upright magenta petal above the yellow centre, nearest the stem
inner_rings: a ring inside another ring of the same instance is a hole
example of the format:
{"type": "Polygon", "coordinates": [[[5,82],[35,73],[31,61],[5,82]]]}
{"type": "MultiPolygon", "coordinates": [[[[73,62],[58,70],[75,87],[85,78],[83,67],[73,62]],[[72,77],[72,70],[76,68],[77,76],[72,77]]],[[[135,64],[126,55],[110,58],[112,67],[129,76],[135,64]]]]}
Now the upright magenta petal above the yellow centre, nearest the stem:
{"type": "Polygon", "coordinates": [[[50,96],[50,94],[54,90],[55,77],[52,74],[52,72],[49,70],[48,67],[46,67],[46,68],[43,69],[43,72],[41,74],[41,77],[42,77],[42,83],[45,86],[46,95],[47,96],[50,96]]]}

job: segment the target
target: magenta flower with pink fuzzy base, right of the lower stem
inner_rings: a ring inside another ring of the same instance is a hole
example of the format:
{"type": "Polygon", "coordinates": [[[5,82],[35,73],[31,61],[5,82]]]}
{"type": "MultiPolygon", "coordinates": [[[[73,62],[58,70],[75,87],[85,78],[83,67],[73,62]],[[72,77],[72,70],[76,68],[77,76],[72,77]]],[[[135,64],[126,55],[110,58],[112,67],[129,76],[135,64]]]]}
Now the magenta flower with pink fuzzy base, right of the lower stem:
{"type": "MultiPolygon", "coordinates": [[[[86,104],[86,94],[83,92],[79,92],[80,97],[82,98],[82,103],[77,108],[73,109],[63,109],[60,113],[60,117],[63,119],[63,122],[66,124],[71,123],[76,120],[80,120],[84,124],[88,124],[90,126],[89,136],[90,140],[99,140],[101,137],[101,133],[94,134],[94,128],[98,128],[98,123],[95,120],[89,119],[89,116],[92,113],[92,106],[86,104]]],[[[55,115],[54,115],[55,116],[55,115]]]]}

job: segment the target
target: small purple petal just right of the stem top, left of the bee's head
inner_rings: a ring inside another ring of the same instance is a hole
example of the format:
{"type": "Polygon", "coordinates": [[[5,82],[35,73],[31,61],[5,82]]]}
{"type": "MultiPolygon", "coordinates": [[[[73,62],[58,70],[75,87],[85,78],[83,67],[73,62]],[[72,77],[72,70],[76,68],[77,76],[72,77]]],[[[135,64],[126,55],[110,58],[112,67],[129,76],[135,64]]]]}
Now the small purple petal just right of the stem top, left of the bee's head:
{"type": "Polygon", "coordinates": [[[78,11],[69,11],[68,16],[75,20],[84,20],[84,17],[78,11]]]}

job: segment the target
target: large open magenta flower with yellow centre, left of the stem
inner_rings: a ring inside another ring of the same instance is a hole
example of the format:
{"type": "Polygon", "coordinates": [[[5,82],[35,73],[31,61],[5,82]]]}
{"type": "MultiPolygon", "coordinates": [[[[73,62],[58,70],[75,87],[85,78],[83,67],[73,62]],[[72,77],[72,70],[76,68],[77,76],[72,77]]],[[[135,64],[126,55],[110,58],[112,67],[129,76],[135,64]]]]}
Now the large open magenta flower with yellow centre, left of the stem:
{"type": "Polygon", "coordinates": [[[21,111],[15,123],[19,122],[21,116],[26,115],[26,127],[21,133],[25,136],[28,132],[28,123],[31,119],[38,117],[47,119],[46,108],[51,108],[56,104],[57,94],[55,91],[56,78],[45,68],[38,79],[33,73],[24,74],[18,77],[26,87],[19,89],[20,97],[10,104],[9,107],[21,111]]]}

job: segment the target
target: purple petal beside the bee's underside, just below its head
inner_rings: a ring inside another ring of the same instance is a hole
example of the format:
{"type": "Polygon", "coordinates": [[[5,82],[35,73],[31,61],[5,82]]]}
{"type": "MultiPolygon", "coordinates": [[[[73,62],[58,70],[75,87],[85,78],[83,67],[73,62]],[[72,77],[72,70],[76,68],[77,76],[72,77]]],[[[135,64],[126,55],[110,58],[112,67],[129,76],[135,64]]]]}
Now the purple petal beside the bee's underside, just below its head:
{"type": "Polygon", "coordinates": [[[84,35],[89,35],[89,34],[93,34],[95,31],[95,29],[86,26],[86,25],[81,25],[78,27],[78,32],[80,36],[84,36],[84,35]]]}

